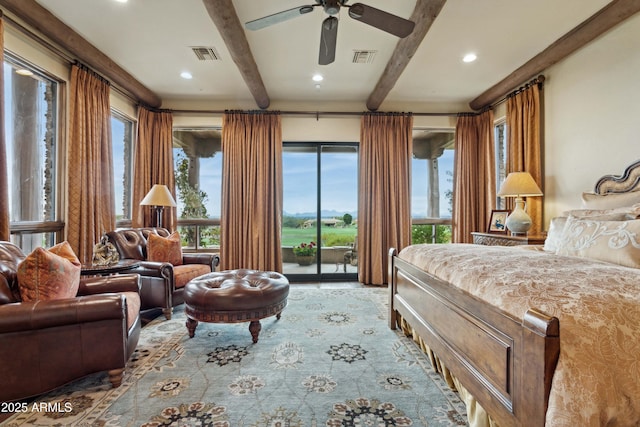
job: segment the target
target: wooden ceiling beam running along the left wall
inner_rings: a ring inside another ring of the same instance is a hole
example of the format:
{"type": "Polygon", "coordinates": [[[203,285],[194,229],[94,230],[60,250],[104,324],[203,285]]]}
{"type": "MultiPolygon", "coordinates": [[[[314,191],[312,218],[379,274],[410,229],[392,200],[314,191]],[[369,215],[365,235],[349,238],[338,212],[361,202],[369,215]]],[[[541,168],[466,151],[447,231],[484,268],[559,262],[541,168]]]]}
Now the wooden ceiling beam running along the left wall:
{"type": "Polygon", "coordinates": [[[138,82],[131,74],[35,0],[0,0],[0,7],[13,13],[21,21],[33,27],[62,49],[68,51],[78,61],[94,69],[141,103],[151,108],[159,108],[162,104],[158,95],[138,82]]]}

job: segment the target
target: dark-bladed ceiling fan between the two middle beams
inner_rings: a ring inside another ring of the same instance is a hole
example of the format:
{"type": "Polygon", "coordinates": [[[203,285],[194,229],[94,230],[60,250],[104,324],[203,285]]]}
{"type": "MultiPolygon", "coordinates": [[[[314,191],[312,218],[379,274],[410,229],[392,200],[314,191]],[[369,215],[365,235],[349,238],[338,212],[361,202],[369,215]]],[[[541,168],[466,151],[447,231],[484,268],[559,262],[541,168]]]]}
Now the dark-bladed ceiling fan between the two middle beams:
{"type": "Polygon", "coordinates": [[[320,65],[328,65],[335,60],[336,41],[338,38],[338,18],[334,15],[340,12],[341,7],[349,8],[349,16],[356,21],[371,25],[397,37],[407,37],[413,31],[413,27],[415,26],[413,21],[362,3],[347,5],[347,1],[349,0],[316,0],[316,4],[294,7],[293,9],[283,10],[273,15],[249,21],[245,23],[245,27],[252,31],[260,30],[297,16],[305,15],[312,12],[315,7],[322,6],[329,17],[322,22],[320,54],[318,56],[318,63],[320,65]]]}

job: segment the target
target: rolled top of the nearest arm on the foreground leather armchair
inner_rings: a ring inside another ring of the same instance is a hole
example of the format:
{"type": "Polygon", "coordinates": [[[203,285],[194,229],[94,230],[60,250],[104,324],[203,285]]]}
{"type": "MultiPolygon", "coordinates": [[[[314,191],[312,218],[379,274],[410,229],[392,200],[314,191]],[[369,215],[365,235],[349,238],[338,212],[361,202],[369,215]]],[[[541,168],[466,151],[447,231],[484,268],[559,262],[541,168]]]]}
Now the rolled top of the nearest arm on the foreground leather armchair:
{"type": "Polygon", "coordinates": [[[106,319],[123,319],[124,322],[126,315],[126,299],[122,294],[4,304],[0,306],[0,334],[106,319]]]}

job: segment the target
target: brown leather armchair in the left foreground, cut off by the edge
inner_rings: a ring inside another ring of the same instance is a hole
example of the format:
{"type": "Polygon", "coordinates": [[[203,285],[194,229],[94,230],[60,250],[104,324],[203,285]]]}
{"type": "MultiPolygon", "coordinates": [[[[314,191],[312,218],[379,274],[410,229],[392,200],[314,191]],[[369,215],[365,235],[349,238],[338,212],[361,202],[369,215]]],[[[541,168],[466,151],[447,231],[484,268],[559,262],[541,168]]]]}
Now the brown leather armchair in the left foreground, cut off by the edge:
{"type": "Polygon", "coordinates": [[[23,302],[20,248],[0,241],[0,401],[107,371],[113,387],[140,337],[137,274],[80,279],[76,298],[23,302]]]}

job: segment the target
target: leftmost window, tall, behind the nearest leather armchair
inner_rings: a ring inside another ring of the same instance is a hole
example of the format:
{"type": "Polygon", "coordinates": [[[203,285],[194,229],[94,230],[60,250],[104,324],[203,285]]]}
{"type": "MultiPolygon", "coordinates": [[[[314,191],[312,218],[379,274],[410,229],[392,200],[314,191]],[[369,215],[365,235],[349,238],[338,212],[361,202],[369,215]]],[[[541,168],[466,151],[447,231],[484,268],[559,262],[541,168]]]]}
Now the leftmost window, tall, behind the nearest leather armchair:
{"type": "Polygon", "coordinates": [[[7,54],[5,130],[11,240],[23,251],[56,243],[58,208],[58,83],[7,54]]]}

